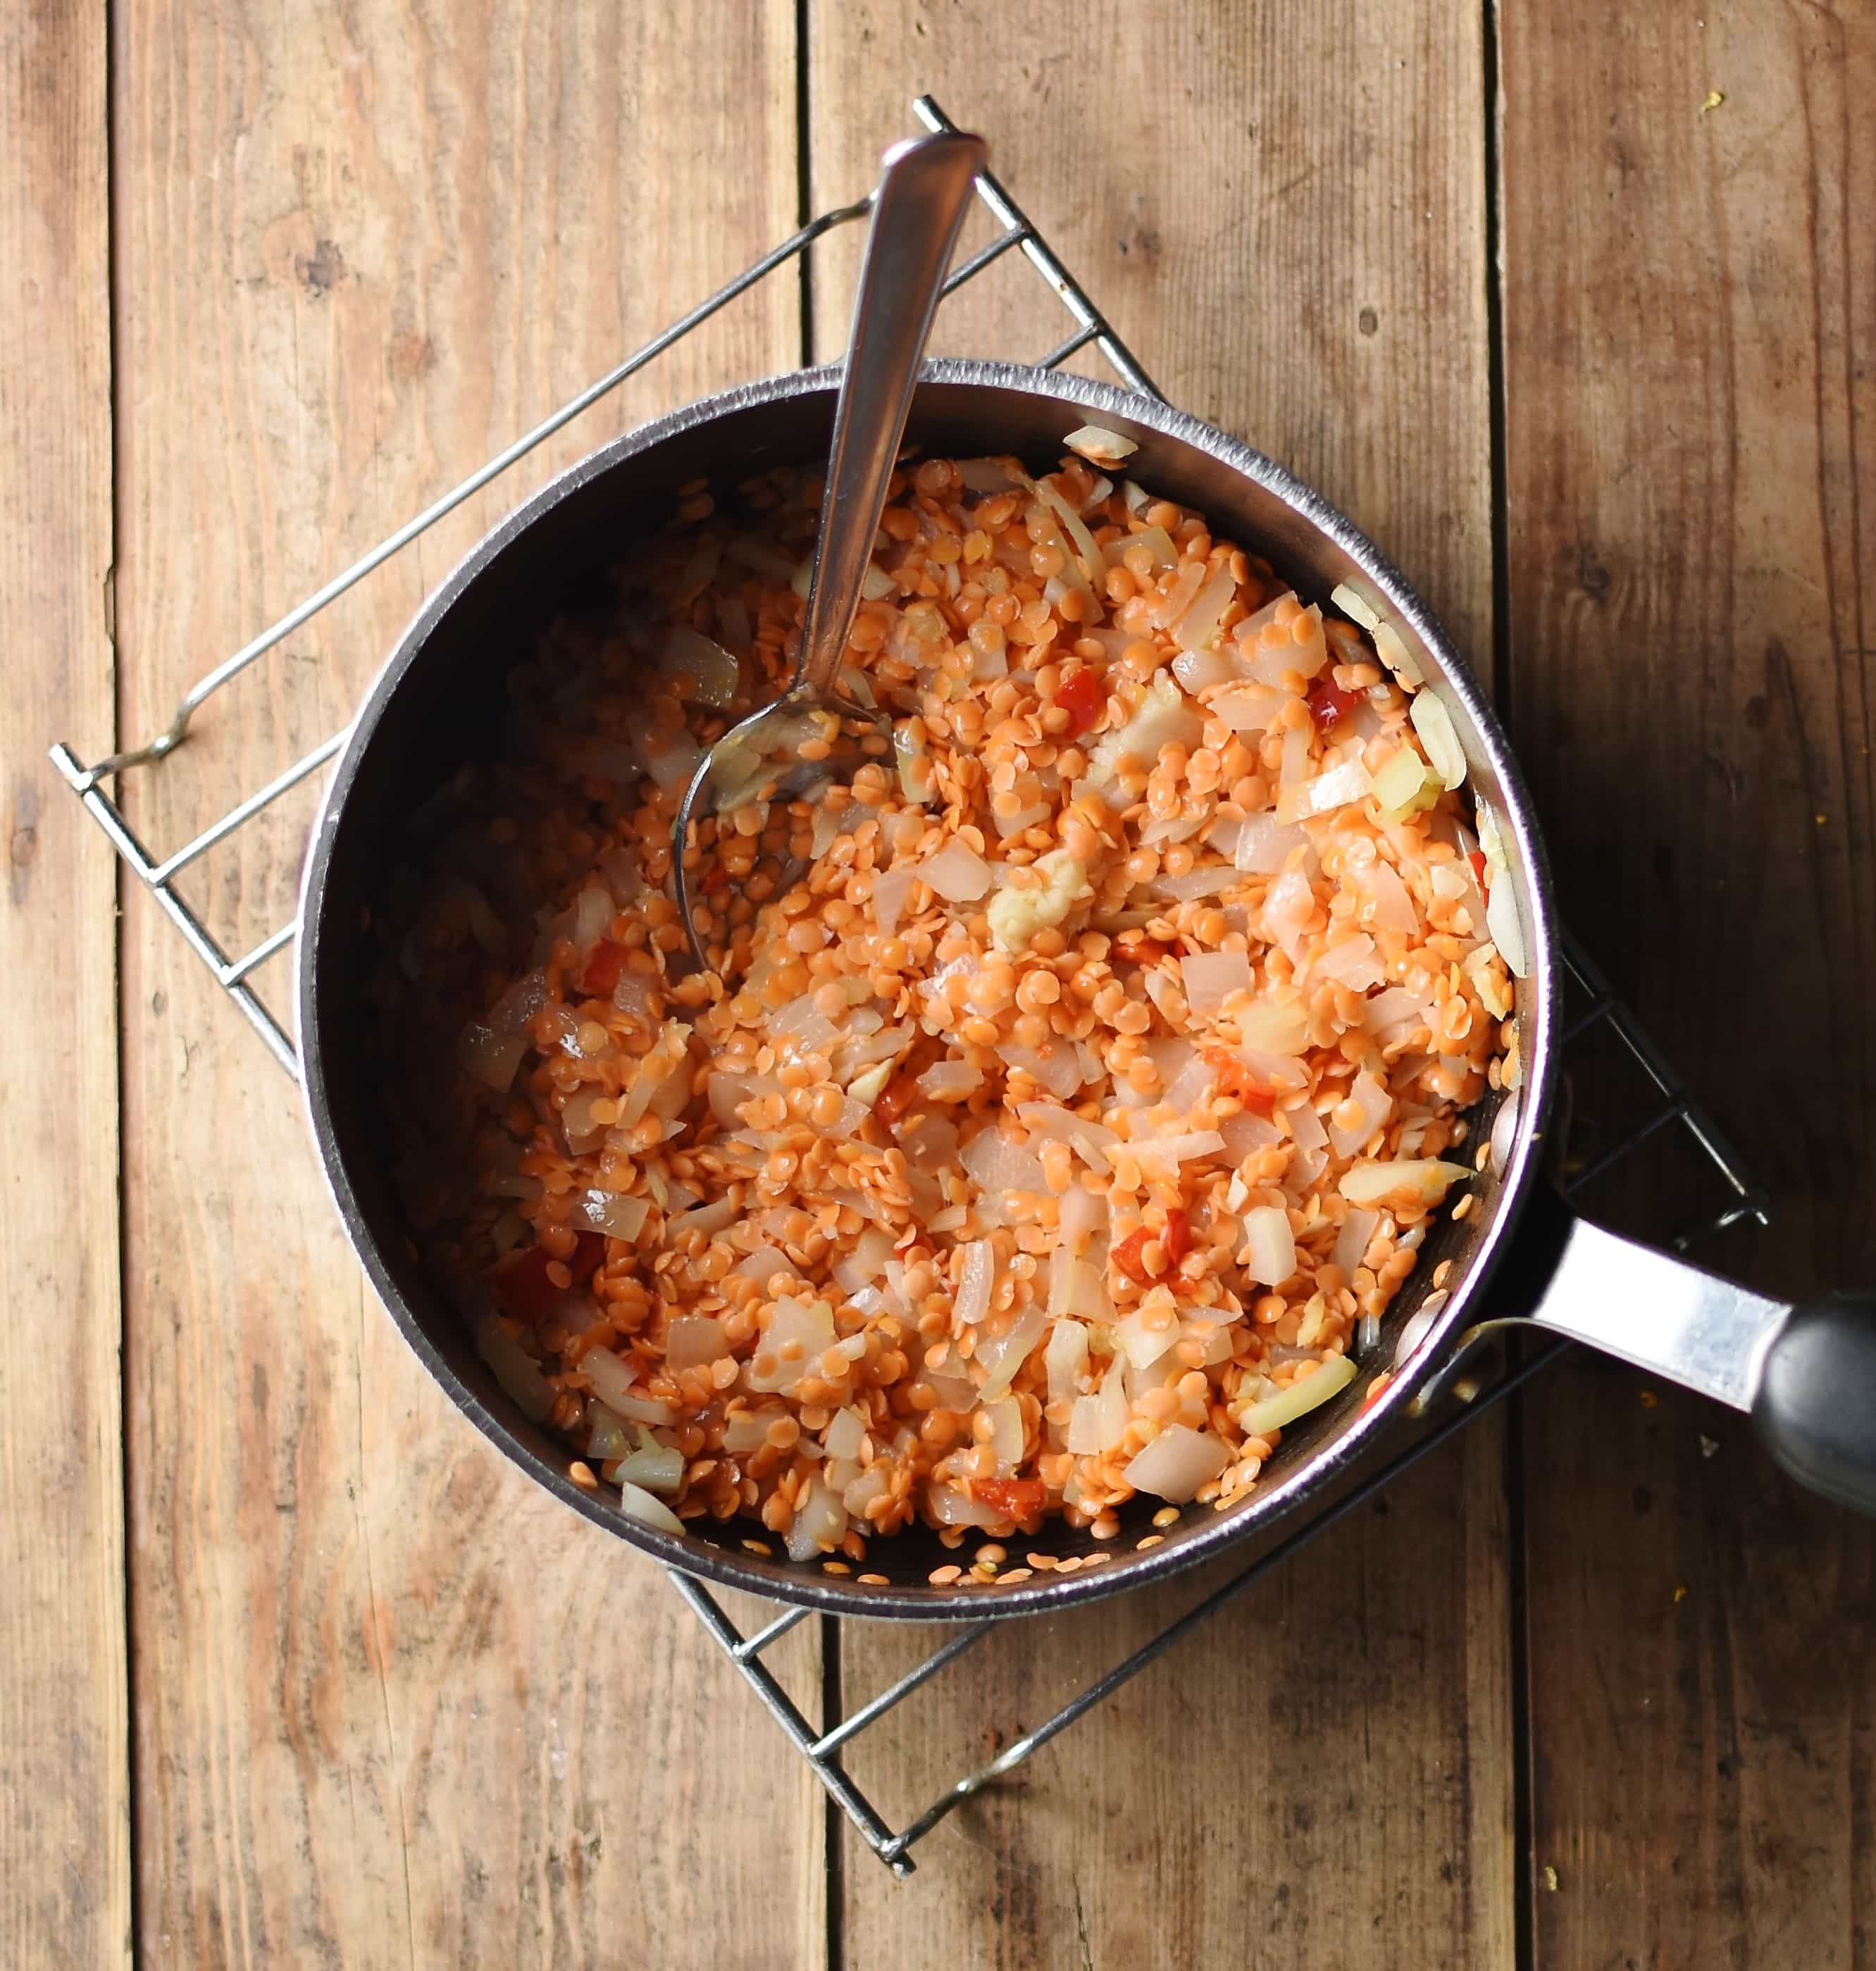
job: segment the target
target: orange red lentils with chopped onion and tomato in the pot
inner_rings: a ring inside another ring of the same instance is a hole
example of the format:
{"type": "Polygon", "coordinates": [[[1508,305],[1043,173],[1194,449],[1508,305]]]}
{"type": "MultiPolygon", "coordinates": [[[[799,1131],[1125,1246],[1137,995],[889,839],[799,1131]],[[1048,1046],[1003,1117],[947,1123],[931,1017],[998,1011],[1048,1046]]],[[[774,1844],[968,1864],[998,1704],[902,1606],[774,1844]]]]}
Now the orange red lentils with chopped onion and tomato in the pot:
{"type": "Polygon", "coordinates": [[[686,489],[516,652],[394,885],[412,1238],[648,1524],[859,1565],[1230,1502],[1385,1380],[1517,1080],[1498,834],[1399,637],[1076,445],[899,473],[843,672],[897,759],[702,826],[713,970],[670,826],[792,668],[804,471],[686,489]]]}

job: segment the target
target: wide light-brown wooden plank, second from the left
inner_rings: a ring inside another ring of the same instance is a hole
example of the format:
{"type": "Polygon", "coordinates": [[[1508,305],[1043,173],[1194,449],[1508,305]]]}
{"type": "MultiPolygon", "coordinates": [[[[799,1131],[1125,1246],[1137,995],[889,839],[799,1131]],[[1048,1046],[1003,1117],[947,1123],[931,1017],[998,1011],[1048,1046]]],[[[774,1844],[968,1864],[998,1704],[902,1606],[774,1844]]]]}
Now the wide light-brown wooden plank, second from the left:
{"type": "MultiPolygon", "coordinates": [[[[786,0],[118,8],[126,729],[788,233],[792,77],[786,0]]],[[[132,777],[150,840],[343,723],[426,587],[556,459],[788,367],[798,321],[788,280],[741,304],[290,639],[132,777]]],[[[185,881],[231,948],[292,913],[305,816],[185,881]]],[[[292,1088],[136,905],[146,1959],[818,1963],[812,1780],[656,1571],[430,1386],[292,1088]]],[[[812,1628],[776,1654],[812,1689],[812,1628]]]]}

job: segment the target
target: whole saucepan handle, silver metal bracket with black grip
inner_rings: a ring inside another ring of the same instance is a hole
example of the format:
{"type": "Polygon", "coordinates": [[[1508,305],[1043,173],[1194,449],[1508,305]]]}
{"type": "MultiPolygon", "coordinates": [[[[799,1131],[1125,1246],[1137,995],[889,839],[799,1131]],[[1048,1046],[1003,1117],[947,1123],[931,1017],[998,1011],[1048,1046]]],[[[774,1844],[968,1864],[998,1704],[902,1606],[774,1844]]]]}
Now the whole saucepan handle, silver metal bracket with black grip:
{"type": "Polygon", "coordinates": [[[1772,1301],[1539,1187],[1486,1305],[1748,1411],[1799,1484],[1876,1514],[1876,1297],[1772,1301]]]}

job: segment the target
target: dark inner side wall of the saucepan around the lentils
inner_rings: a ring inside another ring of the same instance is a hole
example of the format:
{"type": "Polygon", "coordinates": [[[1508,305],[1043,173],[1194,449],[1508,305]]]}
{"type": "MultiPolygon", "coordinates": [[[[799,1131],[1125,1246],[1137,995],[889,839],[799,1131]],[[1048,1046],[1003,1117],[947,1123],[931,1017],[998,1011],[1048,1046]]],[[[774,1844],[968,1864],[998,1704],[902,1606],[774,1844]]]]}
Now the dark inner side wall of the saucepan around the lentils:
{"type": "MultiPolygon", "coordinates": [[[[361,739],[368,743],[355,743],[341,767],[343,798],[333,802],[325,820],[323,879],[307,897],[311,950],[303,954],[303,964],[311,964],[311,984],[303,1005],[311,1011],[305,1035],[309,1086],[315,1108],[327,1112],[341,1206],[374,1281],[467,1413],[538,1478],[552,1482],[589,1516],[613,1524],[617,1514],[603,1500],[595,1504],[570,1492],[566,1445],[514,1411],[418,1265],[388,1181],[376,1076],[367,1051],[357,1045],[368,1013],[363,986],[368,966],[376,962],[367,913],[382,915],[386,873],[408,850],[414,808],[465,761],[501,751],[504,672],[528,650],[544,623],[577,609],[585,595],[597,597],[609,562],[636,534],[664,522],[678,485],[704,475],[733,485],[763,467],[820,457],[830,420],[832,388],[772,398],[751,394],[727,414],[668,432],[650,449],[631,449],[635,440],[623,440],[508,522],[495,552],[485,546],[481,558],[465,564],[432,603],[428,631],[426,619],[420,619],[418,631],[374,688],[361,715],[361,739]]],[[[1042,394],[981,382],[926,382],[912,410],[908,443],[966,455],[1015,451],[1033,469],[1046,471],[1060,457],[1062,436],[1080,422],[1084,418],[1074,406],[1042,394]]],[[[1352,558],[1310,518],[1234,465],[1145,424],[1127,430],[1139,442],[1139,453],[1127,461],[1131,477],[1206,512],[1216,532],[1269,556],[1303,593],[1326,601],[1338,581],[1364,579],[1352,558]]],[[[1429,668],[1437,670],[1437,658],[1429,668]]],[[[1466,731],[1466,721],[1460,727],[1466,731]]],[[[1474,771],[1496,792],[1490,761],[1480,755],[1474,771]]],[[[1352,1427],[1362,1392],[1370,1376],[1391,1362],[1393,1336],[1417,1307],[1433,1263],[1450,1254],[1454,1273],[1464,1275],[1464,1254],[1492,1222],[1496,1190],[1496,1185],[1488,1187],[1468,1224],[1440,1220],[1429,1232],[1425,1263],[1389,1311],[1374,1360],[1364,1362],[1364,1374],[1336,1401],[1285,1433],[1265,1478],[1251,1500],[1234,1508],[1232,1518],[1273,1512],[1295,1476],[1352,1427]]],[[[1011,1561],[1021,1563],[1031,1549],[1050,1555],[1104,1551],[1109,1563],[1102,1567],[1102,1577],[1117,1585],[1147,1567],[1149,1555],[1135,1543],[1147,1533],[1157,1506],[1157,1500],[1135,1500],[1123,1514],[1119,1537],[1106,1543],[1060,1522],[1048,1524],[1035,1541],[1019,1539],[1011,1561]]],[[[1163,1545],[1151,1549],[1153,1571],[1208,1529],[1216,1533],[1216,1522],[1218,1516],[1204,1506],[1186,1508],[1182,1522],[1165,1529],[1163,1545]]],[[[747,1522],[692,1522],[692,1529],[698,1541],[711,1543],[741,1573],[747,1587],[786,1593],[792,1585],[802,1593],[808,1587],[804,1575],[836,1587],[818,1567],[790,1569],[784,1561],[749,1555],[741,1543],[761,1529],[747,1522]]],[[[968,1608],[960,1608],[964,1597],[928,1587],[934,1567],[968,1561],[979,1539],[970,1537],[962,1551],[942,1547],[924,1528],[875,1539],[865,1571],[887,1575],[891,1585],[869,1591],[839,1581],[838,1587],[849,1604],[861,1597],[877,1612],[985,1612],[995,1606],[995,1595],[972,1593],[968,1608]]]]}

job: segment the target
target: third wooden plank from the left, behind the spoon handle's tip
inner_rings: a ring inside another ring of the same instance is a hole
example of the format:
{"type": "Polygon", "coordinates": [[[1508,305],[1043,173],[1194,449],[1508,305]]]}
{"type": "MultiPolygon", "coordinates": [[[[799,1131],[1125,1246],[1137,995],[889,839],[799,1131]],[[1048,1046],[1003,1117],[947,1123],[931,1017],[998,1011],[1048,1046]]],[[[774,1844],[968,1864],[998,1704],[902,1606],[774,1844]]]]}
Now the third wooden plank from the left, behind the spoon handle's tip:
{"type": "MultiPolygon", "coordinates": [[[[1316,483],[1490,652],[1484,91],[1444,8],[810,8],[816,203],[871,179],[930,89],[1159,384],[1316,483]],[[1283,59],[1269,59],[1281,47],[1283,59]],[[1115,77],[1127,77],[1115,87],[1115,77]]],[[[816,274],[839,347],[855,240],[816,274]]],[[[1015,256],[940,349],[1035,359],[1066,319],[1015,256]]],[[[1484,668],[1490,668],[1484,662],[1484,668]]],[[[869,1967],[1506,1963],[1509,1608],[1482,1425],[918,1849],[849,1843],[869,1967]],[[910,1912],[916,1902],[916,1920],[910,1912]]],[[[1186,1591],[1190,1593],[1190,1591],[1186,1591]]],[[[869,1734],[895,1819],[1143,1642],[1180,1595],[1025,1624],[869,1734]]],[[[849,1703],[930,1646],[855,1626],[849,1703]]]]}

